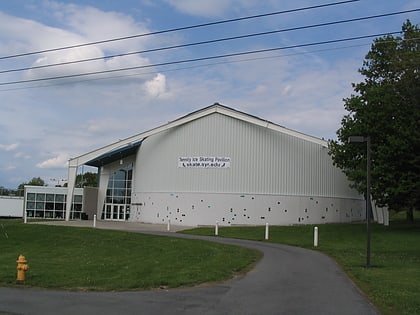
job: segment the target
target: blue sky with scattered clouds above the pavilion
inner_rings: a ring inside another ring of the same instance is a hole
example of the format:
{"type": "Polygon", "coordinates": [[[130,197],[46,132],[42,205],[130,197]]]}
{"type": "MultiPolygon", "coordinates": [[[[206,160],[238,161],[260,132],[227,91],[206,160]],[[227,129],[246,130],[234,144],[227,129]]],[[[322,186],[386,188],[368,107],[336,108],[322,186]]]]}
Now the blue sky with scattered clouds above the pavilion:
{"type": "MultiPolygon", "coordinates": [[[[102,0],[0,3],[0,57],[338,0],[102,0]]],[[[259,19],[0,60],[0,71],[418,9],[418,0],[360,0],[259,19]]],[[[95,80],[0,85],[0,186],[66,179],[66,163],[219,102],[333,139],[343,98],[373,39],[170,66],[159,63],[401,30],[419,12],[89,63],[0,73],[0,83],[145,65],[95,80]]]]}

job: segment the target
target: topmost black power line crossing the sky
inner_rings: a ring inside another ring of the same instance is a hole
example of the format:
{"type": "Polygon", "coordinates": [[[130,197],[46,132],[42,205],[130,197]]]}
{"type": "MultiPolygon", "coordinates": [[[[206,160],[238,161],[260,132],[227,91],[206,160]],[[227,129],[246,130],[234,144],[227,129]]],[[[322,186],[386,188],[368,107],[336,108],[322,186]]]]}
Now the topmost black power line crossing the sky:
{"type": "Polygon", "coordinates": [[[178,31],[190,30],[190,29],[195,29],[195,28],[202,28],[202,27],[213,26],[213,25],[239,22],[239,21],[256,19],[256,18],[261,18],[261,17],[279,15],[279,14],[286,14],[286,13],[294,13],[294,12],[299,12],[299,11],[320,9],[320,8],[325,8],[325,7],[330,7],[330,6],[347,4],[347,3],[351,3],[351,2],[358,2],[358,1],[360,1],[360,0],[345,0],[345,1],[326,3],[326,4],[320,4],[320,5],[314,5],[314,6],[307,6],[307,7],[301,7],[301,8],[296,8],[296,9],[290,9],[290,10],[283,10],[283,11],[264,13],[264,14],[250,15],[250,16],[239,17],[239,18],[228,19],[228,20],[221,20],[221,21],[215,21],[215,22],[209,22],[209,23],[195,24],[195,25],[190,25],[190,26],[182,26],[182,27],[171,28],[171,29],[166,29],[166,30],[161,30],[161,31],[156,31],[156,32],[149,32],[149,33],[136,34],[136,35],[131,35],[131,36],[117,37],[117,38],[105,39],[105,40],[100,40],[100,41],[95,41],[95,42],[84,43],[84,44],[63,46],[63,47],[58,47],[58,48],[44,49],[44,50],[32,51],[32,52],[15,54],[15,55],[8,55],[8,56],[0,57],[0,60],[17,58],[17,57],[24,57],[24,56],[30,56],[30,55],[37,55],[37,54],[41,54],[41,53],[48,53],[48,52],[53,52],[53,51],[79,48],[79,47],[85,47],[85,46],[92,46],[92,45],[110,43],[110,42],[115,42],[115,41],[133,39],[133,38],[140,38],[140,37],[151,36],[151,35],[160,35],[160,34],[165,34],[165,33],[178,32],[178,31]]]}

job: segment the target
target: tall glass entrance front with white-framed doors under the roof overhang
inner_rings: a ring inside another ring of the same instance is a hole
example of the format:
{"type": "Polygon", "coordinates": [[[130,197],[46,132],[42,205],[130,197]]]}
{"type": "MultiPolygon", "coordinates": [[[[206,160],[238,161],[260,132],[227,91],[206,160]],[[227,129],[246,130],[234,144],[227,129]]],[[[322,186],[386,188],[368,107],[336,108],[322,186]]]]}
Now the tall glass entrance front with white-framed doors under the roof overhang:
{"type": "Polygon", "coordinates": [[[128,220],[131,205],[133,166],[122,168],[109,178],[102,219],[128,220]]]}

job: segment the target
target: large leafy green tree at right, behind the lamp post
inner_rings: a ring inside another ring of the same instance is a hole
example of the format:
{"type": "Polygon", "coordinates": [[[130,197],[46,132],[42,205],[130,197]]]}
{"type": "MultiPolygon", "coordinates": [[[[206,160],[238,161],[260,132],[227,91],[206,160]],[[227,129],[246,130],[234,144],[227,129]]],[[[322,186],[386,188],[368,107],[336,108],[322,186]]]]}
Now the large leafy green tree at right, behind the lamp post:
{"type": "Polygon", "coordinates": [[[401,36],[378,38],[344,99],[348,112],[330,141],[334,164],[359,192],[366,192],[366,144],[349,136],[371,137],[371,191],[379,205],[407,211],[413,220],[420,205],[420,28],[404,23],[401,36]]]}

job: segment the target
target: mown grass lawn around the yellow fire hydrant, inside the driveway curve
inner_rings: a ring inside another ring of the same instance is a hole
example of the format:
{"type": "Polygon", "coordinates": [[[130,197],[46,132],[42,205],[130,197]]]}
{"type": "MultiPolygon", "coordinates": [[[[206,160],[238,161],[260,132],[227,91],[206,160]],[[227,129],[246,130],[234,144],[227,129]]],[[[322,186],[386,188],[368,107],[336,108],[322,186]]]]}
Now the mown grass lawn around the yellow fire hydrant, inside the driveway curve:
{"type": "Polygon", "coordinates": [[[69,290],[192,286],[232,278],[261,257],[199,240],[0,220],[0,286],[17,285],[20,254],[30,268],[24,285],[69,290]]]}

